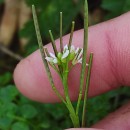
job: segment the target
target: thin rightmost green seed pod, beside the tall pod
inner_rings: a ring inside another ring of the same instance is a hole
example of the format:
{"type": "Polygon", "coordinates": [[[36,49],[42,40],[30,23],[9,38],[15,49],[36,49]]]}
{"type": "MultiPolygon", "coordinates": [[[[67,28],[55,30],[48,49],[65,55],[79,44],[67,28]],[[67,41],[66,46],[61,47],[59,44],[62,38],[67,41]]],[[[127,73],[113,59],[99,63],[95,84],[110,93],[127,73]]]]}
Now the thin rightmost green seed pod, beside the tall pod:
{"type": "Polygon", "coordinates": [[[91,76],[91,69],[92,69],[92,61],[93,61],[93,53],[90,54],[89,57],[89,66],[88,66],[88,73],[86,78],[86,89],[84,95],[84,105],[83,105],[83,114],[82,114],[82,127],[85,127],[85,119],[86,119],[86,107],[87,107],[87,100],[88,100],[88,90],[89,90],[89,83],[90,83],[90,76],[91,76]]]}

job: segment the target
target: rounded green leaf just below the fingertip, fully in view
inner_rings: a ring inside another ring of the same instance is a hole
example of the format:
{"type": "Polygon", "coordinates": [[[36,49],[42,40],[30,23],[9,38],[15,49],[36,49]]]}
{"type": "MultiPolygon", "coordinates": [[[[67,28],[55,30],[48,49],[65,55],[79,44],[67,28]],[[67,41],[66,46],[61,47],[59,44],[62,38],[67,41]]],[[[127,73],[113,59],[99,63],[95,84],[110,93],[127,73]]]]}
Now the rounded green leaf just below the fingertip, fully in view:
{"type": "Polygon", "coordinates": [[[28,118],[28,119],[34,118],[38,114],[36,108],[29,104],[25,104],[21,106],[20,112],[24,118],[28,118]]]}

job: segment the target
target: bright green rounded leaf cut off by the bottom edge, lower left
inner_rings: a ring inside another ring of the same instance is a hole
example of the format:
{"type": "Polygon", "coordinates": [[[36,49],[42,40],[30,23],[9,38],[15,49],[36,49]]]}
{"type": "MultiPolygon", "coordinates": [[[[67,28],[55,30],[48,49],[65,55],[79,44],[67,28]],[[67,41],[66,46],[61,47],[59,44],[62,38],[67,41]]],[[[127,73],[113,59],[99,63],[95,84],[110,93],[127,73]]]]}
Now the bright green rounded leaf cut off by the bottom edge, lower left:
{"type": "Polygon", "coordinates": [[[12,125],[11,130],[29,130],[29,126],[22,122],[16,122],[12,125]]]}

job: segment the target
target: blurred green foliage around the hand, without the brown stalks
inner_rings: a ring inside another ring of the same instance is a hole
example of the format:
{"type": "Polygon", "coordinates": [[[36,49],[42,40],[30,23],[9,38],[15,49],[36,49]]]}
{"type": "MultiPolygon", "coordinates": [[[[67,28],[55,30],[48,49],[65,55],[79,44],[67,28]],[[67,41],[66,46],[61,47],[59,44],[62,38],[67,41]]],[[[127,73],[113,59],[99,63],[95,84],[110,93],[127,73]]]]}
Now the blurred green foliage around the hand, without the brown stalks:
{"type": "MultiPolygon", "coordinates": [[[[95,0],[96,1],[96,0],[95,0]]],[[[89,2],[94,4],[94,0],[89,2]]],[[[0,3],[4,0],[0,0],[0,3]]],[[[72,0],[26,0],[28,6],[35,4],[44,44],[49,42],[48,30],[51,29],[55,38],[59,36],[59,12],[64,14],[64,34],[70,30],[72,20],[77,20],[82,10],[83,1],[74,4],[72,0]]],[[[121,15],[130,9],[130,0],[101,0],[98,8],[104,12],[103,19],[121,15]]],[[[81,25],[82,25],[82,19],[81,25]]],[[[79,29],[79,27],[77,27],[79,29]]],[[[19,32],[21,37],[29,38],[24,56],[35,51],[37,46],[32,19],[19,32]]],[[[96,123],[109,112],[114,111],[130,98],[130,88],[97,96],[88,103],[88,126],[96,123]]],[[[68,112],[62,104],[41,104],[30,101],[16,89],[12,72],[0,74],[0,129],[1,130],[62,130],[72,127],[68,112]]]]}

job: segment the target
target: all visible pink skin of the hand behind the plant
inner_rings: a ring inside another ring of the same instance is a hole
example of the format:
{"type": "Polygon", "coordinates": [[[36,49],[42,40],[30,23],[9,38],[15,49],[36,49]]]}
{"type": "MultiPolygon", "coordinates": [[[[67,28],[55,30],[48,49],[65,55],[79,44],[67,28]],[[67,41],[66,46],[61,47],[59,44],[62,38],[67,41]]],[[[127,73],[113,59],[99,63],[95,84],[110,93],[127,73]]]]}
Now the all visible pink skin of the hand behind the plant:
{"type": "MultiPolygon", "coordinates": [[[[68,43],[69,35],[63,38],[68,43]]],[[[59,47],[59,40],[56,41],[59,47]]],[[[83,30],[74,33],[73,44],[82,47],[83,30]]],[[[52,52],[51,45],[46,46],[52,52]]],[[[89,50],[94,53],[89,97],[130,86],[130,13],[89,28],[89,50]]],[[[81,65],[76,65],[69,75],[69,92],[72,100],[77,99],[81,65]]],[[[51,70],[55,85],[63,94],[58,75],[51,70]]],[[[44,103],[59,102],[52,91],[39,51],[22,60],[14,71],[14,81],[26,97],[44,103]]],[[[130,103],[105,119],[82,130],[129,130],[130,103]]],[[[80,130],[80,129],[71,129],[80,130]]]]}

